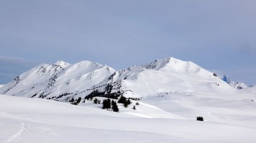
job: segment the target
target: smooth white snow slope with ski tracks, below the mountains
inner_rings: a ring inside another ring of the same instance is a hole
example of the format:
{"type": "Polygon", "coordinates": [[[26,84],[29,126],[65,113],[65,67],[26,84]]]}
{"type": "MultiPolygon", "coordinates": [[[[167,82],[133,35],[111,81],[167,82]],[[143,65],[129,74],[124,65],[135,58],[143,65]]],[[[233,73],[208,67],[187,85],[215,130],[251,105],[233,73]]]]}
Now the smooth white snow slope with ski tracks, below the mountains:
{"type": "Polygon", "coordinates": [[[0,95],[0,142],[256,141],[255,103],[240,99],[232,102],[186,94],[145,98],[137,112],[147,118],[137,116],[130,106],[119,105],[120,112],[112,112],[89,101],[86,104],[0,95]],[[204,109],[207,106],[209,110],[204,109]],[[237,109],[241,110],[236,113],[237,109]],[[206,117],[207,111],[213,113],[206,117]],[[207,121],[196,121],[197,113],[207,121]]]}

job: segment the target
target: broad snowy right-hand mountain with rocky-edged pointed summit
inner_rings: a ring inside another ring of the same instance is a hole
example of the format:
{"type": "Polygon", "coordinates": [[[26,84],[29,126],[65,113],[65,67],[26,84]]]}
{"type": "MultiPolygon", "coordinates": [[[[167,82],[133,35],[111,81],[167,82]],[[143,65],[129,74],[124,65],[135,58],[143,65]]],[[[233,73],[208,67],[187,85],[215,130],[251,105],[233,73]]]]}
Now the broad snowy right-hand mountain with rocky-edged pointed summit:
{"type": "Polygon", "coordinates": [[[170,92],[233,91],[215,73],[195,63],[175,58],[154,60],[114,72],[106,83],[127,97],[146,97],[170,92]]]}

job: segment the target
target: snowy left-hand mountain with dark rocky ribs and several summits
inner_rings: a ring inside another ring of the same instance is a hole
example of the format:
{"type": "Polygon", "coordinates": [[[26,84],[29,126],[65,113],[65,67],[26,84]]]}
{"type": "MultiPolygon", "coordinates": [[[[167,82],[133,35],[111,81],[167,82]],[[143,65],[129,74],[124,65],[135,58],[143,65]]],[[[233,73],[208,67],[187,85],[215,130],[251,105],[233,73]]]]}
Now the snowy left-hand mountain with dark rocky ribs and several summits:
{"type": "Polygon", "coordinates": [[[1,88],[0,93],[66,101],[69,96],[86,92],[113,72],[113,68],[89,61],[73,65],[63,61],[52,65],[40,64],[17,76],[14,81],[1,88]]]}

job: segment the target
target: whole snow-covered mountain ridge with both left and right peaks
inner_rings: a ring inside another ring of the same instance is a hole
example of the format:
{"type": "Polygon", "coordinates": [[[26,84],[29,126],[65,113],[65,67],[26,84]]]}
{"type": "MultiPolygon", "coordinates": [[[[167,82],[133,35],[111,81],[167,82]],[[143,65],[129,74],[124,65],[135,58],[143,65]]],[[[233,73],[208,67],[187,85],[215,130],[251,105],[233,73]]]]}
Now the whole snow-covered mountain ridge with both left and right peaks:
{"type": "Polygon", "coordinates": [[[159,93],[219,93],[232,90],[215,73],[195,63],[163,58],[119,71],[89,61],[40,64],[3,86],[0,93],[65,102],[72,97],[84,98],[90,93],[141,98],[159,93]]]}

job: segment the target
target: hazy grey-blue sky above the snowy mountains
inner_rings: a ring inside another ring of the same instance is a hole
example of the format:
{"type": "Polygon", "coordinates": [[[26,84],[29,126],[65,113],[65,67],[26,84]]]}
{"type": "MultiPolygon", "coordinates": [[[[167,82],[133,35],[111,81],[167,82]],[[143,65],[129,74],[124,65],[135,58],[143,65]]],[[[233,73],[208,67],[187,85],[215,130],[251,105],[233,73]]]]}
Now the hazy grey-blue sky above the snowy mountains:
{"type": "Polygon", "coordinates": [[[119,70],[164,57],[256,84],[255,7],[254,0],[0,1],[0,84],[56,60],[119,70]],[[17,66],[17,58],[28,63],[17,66]]]}

